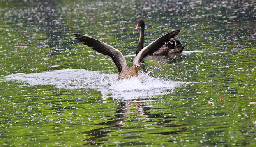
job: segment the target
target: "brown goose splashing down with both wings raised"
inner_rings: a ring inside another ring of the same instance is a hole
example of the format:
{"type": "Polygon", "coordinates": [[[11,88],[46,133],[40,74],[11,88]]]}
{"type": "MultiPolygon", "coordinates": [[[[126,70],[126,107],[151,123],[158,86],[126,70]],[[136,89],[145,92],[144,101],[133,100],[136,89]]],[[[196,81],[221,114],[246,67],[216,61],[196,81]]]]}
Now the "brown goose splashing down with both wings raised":
{"type": "Polygon", "coordinates": [[[138,55],[134,58],[131,69],[127,66],[125,57],[118,49],[115,49],[114,47],[111,47],[104,42],[88,36],[79,34],[74,34],[74,36],[76,37],[75,39],[77,39],[79,42],[82,42],[83,45],[92,47],[93,50],[102,53],[103,55],[110,56],[118,68],[118,80],[122,80],[129,79],[132,76],[138,76],[141,60],[147,55],[152,55],[152,53],[163,46],[166,41],[170,41],[171,38],[174,38],[175,35],[178,35],[179,32],[180,30],[176,30],[172,31],[171,33],[167,33],[141,49],[141,51],[138,52],[138,55]]]}

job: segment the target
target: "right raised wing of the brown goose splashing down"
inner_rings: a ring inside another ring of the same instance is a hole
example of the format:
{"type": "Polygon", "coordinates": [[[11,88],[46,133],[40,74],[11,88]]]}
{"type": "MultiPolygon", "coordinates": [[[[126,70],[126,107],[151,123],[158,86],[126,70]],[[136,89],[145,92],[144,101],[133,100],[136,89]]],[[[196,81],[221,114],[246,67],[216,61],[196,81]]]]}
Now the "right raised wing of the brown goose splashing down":
{"type": "Polygon", "coordinates": [[[162,47],[166,41],[170,41],[171,38],[174,38],[175,35],[178,35],[179,32],[180,32],[180,29],[176,31],[172,31],[171,33],[167,33],[159,37],[157,40],[151,42],[148,46],[141,49],[138,55],[134,58],[133,64],[140,63],[141,60],[147,55],[152,55],[152,53],[154,53],[160,47],[162,47]]]}

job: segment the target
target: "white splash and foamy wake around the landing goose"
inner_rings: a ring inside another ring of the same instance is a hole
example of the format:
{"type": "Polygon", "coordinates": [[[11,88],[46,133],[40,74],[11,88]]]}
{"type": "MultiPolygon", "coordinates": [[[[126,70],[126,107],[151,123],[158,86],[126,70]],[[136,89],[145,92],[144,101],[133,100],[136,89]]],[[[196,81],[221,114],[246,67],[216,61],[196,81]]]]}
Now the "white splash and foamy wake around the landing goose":
{"type": "Polygon", "coordinates": [[[100,74],[84,69],[65,69],[32,74],[12,74],[5,80],[18,80],[30,85],[54,85],[57,88],[100,90],[103,98],[133,99],[171,93],[185,83],[154,78],[140,74],[128,80],[117,81],[117,74],[100,74]]]}

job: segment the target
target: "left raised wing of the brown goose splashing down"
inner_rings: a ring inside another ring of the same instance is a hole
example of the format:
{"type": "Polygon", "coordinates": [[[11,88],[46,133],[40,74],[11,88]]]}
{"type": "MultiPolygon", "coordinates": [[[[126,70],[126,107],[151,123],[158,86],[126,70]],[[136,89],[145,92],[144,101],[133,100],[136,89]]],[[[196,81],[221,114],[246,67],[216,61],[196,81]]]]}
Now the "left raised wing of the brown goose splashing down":
{"type": "Polygon", "coordinates": [[[102,53],[103,55],[108,55],[112,58],[113,62],[115,63],[116,67],[118,68],[118,74],[125,70],[126,67],[126,60],[125,57],[122,55],[122,53],[115,49],[114,47],[111,47],[110,45],[107,45],[104,42],[101,42],[97,39],[83,36],[79,34],[74,34],[79,42],[82,42],[83,45],[87,45],[88,47],[92,47],[93,50],[102,53]]]}

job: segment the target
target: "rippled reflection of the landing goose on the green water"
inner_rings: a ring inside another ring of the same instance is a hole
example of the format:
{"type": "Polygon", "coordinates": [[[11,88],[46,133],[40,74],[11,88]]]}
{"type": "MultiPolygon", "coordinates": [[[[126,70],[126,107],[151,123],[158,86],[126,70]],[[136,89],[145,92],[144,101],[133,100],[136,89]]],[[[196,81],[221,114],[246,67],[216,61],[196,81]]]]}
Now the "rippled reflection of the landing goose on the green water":
{"type": "MultiPolygon", "coordinates": [[[[144,101],[148,101],[148,100],[150,99],[144,99],[144,101]]],[[[161,135],[179,134],[187,131],[187,129],[185,128],[186,127],[185,124],[172,123],[172,121],[175,121],[176,117],[166,116],[170,113],[152,114],[148,112],[148,110],[151,110],[152,108],[145,107],[144,102],[141,102],[141,99],[135,99],[135,100],[119,99],[119,101],[120,101],[119,107],[117,108],[118,111],[115,111],[116,114],[114,115],[115,118],[112,118],[113,116],[110,116],[111,118],[109,118],[107,121],[101,122],[99,124],[95,124],[95,125],[101,125],[103,127],[83,132],[83,134],[85,134],[85,137],[87,138],[84,140],[86,143],[83,145],[104,144],[109,141],[108,137],[114,137],[114,136],[123,136],[124,138],[125,136],[130,136],[130,135],[140,136],[142,134],[158,134],[161,136],[161,135]],[[137,111],[133,111],[133,109],[137,109],[137,111]],[[134,114],[136,114],[136,116],[134,116],[134,114]],[[129,125],[129,123],[127,123],[127,122],[134,121],[134,118],[137,118],[138,121],[142,120],[142,123],[144,125],[141,128],[142,129],[141,131],[139,132],[129,131],[126,134],[114,133],[122,129],[134,128],[134,126],[129,125]],[[172,129],[173,127],[175,127],[175,129],[172,129]],[[153,128],[165,128],[165,129],[160,132],[151,132],[150,130],[152,130],[153,128]],[[172,131],[168,131],[168,130],[172,130],[172,131]]],[[[157,109],[157,108],[154,108],[154,109],[157,109]]]]}

